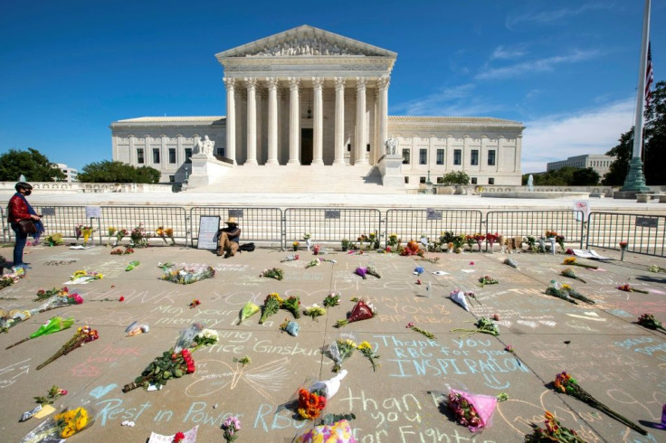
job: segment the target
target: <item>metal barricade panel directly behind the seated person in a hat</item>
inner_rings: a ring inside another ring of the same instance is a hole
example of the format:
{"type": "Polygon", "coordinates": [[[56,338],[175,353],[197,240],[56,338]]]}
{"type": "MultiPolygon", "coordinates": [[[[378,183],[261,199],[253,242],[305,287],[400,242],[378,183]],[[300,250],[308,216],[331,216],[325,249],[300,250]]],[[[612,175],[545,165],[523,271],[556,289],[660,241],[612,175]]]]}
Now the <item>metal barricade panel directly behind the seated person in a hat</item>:
{"type": "Polygon", "coordinates": [[[241,244],[248,241],[271,242],[282,245],[282,211],[280,208],[198,206],[190,210],[192,223],[191,244],[199,238],[199,221],[202,216],[220,216],[220,228],[226,226],[229,217],[238,219],[241,228],[241,244]]]}

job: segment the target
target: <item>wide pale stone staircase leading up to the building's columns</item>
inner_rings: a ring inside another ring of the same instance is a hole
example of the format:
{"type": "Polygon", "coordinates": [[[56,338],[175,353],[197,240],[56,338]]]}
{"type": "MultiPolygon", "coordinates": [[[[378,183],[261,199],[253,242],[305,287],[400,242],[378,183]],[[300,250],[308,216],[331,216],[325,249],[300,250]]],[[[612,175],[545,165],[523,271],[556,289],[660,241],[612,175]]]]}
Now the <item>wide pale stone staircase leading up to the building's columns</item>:
{"type": "Polygon", "coordinates": [[[187,193],[405,193],[382,185],[371,165],[241,165],[187,193]]]}

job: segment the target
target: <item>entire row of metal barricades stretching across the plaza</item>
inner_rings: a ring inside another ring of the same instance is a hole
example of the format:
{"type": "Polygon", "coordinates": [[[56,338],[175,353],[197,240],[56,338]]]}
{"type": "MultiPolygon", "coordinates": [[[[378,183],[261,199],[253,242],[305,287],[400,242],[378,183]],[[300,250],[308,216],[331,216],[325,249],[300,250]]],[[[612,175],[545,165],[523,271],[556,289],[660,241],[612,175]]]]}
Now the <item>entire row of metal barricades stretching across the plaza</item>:
{"type": "MultiPolygon", "coordinates": [[[[162,226],[174,231],[180,244],[195,246],[199,222],[204,215],[219,215],[224,225],[236,217],[243,230],[243,241],[269,243],[286,248],[291,241],[302,240],[311,233],[318,243],[355,241],[361,234],[376,232],[386,240],[395,233],[404,242],[417,240],[422,234],[437,240],[442,231],[454,234],[498,232],[505,238],[540,236],[557,231],[566,243],[583,248],[618,250],[620,241],[627,241],[628,250],[645,255],[666,257],[666,216],[592,212],[584,223],[579,211],[490,211],[485,219],[480,211],[440,209],[392,209],[384,213],[363,208],[279,208],[202,206],[189,210],[177,206],[100,206],[99,218],[89,218],[86,206],[37,205],[43,214],[44,235],[60,232],[66,239],[75,237],[75,226],[92,225],[94,240],[104,242],[107,229],[131,231],[139,223],[149,233],[162,226]],[[586,226],[585,226],[586,224],[586,226]]],[[[90,215],[90,214],[88,214],[90,215]]],[[[6,221],[6,211],[0,208],[2,240],[13,240],[14,231],[6,221]]],[[[160,240],[153,239],[152,243],[160,240]]]]}

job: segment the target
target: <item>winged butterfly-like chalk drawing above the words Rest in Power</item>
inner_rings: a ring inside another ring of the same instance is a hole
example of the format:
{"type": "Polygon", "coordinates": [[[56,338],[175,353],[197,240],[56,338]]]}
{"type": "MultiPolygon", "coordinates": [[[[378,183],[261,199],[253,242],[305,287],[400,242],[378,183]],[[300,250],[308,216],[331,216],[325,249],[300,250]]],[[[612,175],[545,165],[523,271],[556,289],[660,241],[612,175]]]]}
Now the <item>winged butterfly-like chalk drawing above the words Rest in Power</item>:
{"type": "Polygon", "coordinates": [[[186,388],[187,397],[206,397],[227,386],[233,391],[238,382],[243,380],[259,392],[266,400],[271,401],[270,391],[280,391],[281,386],[289,379],[287,357],[265,363],[261,366],[243,366],[236,363],[235,369],[219,360],[201,360],[196,362],[195,382],[186,388]]]}

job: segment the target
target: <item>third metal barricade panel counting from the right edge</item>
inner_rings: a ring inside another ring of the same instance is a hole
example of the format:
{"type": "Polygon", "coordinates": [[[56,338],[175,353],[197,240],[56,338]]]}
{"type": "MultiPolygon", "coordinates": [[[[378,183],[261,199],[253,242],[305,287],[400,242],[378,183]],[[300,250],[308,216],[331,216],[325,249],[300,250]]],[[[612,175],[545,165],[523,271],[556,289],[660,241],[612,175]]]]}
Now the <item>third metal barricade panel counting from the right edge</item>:
{"type": "MultiPolygon", "coordinates": [[[[390,209],[386,211],[386,237],[392,234],[406,243],[420,240],[424,234],[429,241],[439,240],[442,232],[456,235],[481,232],[483,214],[480,211],[445,209],[390,209]]],[[[386,239],[385,239],[386,240],[386,239]]]]}

